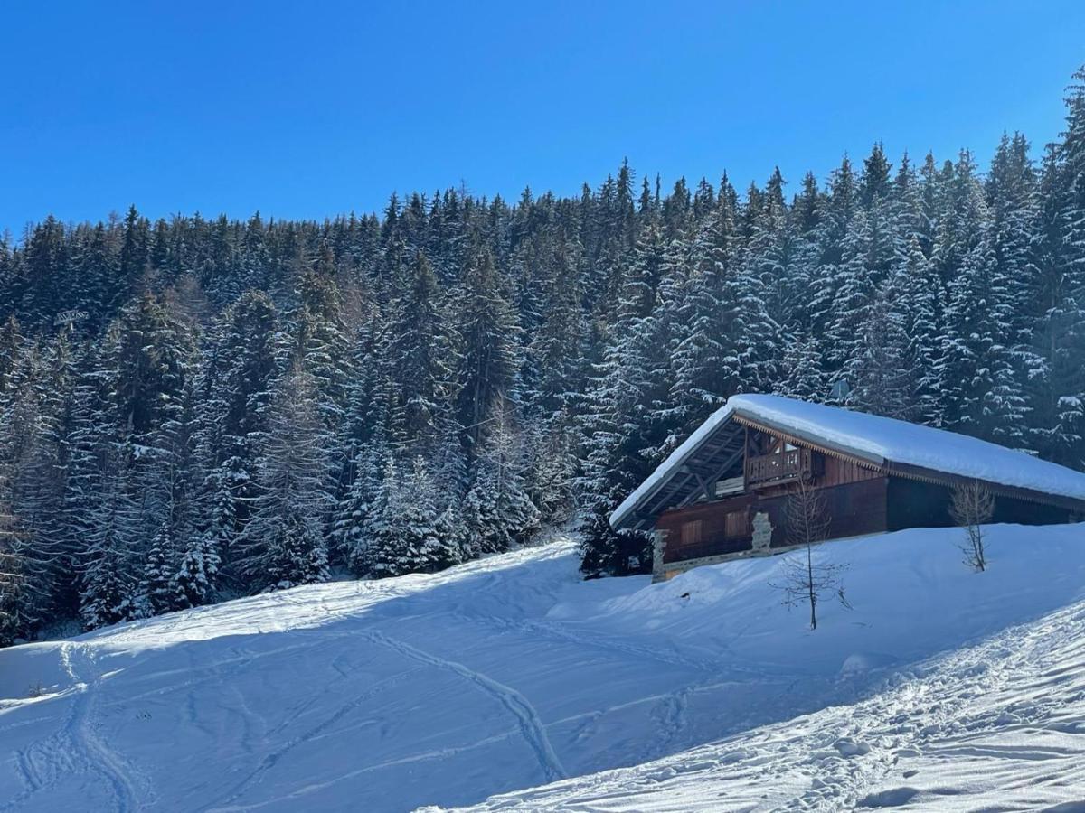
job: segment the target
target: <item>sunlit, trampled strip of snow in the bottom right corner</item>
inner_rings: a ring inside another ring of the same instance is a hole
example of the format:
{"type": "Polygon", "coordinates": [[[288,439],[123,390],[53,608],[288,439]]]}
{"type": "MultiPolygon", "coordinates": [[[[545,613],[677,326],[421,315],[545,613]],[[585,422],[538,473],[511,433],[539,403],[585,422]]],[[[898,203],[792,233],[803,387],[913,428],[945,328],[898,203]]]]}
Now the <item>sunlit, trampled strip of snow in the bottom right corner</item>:
{"type": "Polygon", "coordinates": [[[1077,813],[1085,810],[1085,741],[1034,740],[1085,735],[1082,641],[1085,604],[917,664],[854,706],[649,764],[505,793],[462,810],[1077,813]],[[1068,660],[1072,666],[1065,666],[1068,660]],[[1073,719],[1062,720],[1065,715],[1073,719]],[[988,741],[992,736],[997,741],[988,741]],[[996,784],[987,789],[990,798],[976,799],[953,782],[940,780],[940,766],[958,760],[1042,767],[1035,775],[1022,772],[1011,785],[996,784]],[[924,780],[924,774],[932,776],[924,780]],[[1052,804],[1044,798],[1044,790],[1052,788],[1073,801],[1052,804]]]}

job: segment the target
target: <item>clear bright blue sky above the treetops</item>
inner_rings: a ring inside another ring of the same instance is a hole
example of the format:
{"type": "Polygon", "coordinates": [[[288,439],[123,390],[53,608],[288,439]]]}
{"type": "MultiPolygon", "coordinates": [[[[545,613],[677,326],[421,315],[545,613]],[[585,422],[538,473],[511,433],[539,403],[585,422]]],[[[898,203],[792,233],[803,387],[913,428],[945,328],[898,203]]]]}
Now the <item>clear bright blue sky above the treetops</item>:
{"type": "Polygon", "coordinates": [[[1085,63],[1085,2],[16,0],[0,10],[0,230],[220,211],[323,218],[461,181],[794,191],[882,140],[1034,154],[1085,63]],[[306,8],[311,7],[311,8],[306,8]]]}

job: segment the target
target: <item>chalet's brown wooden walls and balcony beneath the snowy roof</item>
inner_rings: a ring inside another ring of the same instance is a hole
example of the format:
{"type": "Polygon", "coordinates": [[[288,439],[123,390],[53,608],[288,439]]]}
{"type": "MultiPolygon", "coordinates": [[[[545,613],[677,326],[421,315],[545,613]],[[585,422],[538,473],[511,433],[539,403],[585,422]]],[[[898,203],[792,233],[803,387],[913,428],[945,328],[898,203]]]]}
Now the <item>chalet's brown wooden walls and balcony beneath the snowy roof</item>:
{"type": "MultiPolygon", "coordinates": [[[[965,478],[875,463],[739,415],[673,473],[623,527],[655,535],[656,580],[692,567],[788,550],[788,502],[803,478],[819,491],[826,539],[952,525],[965,478]]],[[[1044,525],[1085,516],[1085,502],[992,485],[996,522],[1044,525]]]]}

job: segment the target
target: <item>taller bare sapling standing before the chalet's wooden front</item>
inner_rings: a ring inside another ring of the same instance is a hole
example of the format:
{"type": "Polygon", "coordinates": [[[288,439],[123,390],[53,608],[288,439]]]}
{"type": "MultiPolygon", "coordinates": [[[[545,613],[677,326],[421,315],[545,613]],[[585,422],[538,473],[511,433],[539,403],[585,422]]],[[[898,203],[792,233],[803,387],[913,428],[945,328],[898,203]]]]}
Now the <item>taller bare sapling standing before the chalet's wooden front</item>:
{"type": "Polygon", "coordinates": [[[843,572],[847,565],[814,562],[814,545],[821,542],[829,531],[829,512],[825,499],[810,481],[803,477],[788,498],[788,542],[802,545],[802,550],[782,557],[783,575],[773,586],[783,592],[783,603],[789,607],[808,604],[810,629],[817,629],[817,605],[824,596],[835,595],[851,609],[844,595],[843,572]]]}

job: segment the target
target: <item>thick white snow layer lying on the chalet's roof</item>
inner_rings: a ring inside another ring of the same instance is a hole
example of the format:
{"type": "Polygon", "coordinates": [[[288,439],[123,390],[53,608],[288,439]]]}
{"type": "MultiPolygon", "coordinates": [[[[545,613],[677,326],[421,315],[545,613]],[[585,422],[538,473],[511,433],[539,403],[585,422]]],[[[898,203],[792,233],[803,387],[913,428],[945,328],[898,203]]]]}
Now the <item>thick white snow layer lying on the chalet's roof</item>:
{"type": "Polygon", "coordinates": [[[665,485],[716,430],[731,417],[777,429],[797,440],[865,460],[877,466],[916,466],[958,477],[984,480],[1085,501],[1085,474],[930,426],[896,421],[839,406],[826,406],[781,396],[733,396],[646,479],[610,517],[617,528],[643,500],[665,485]]]}

